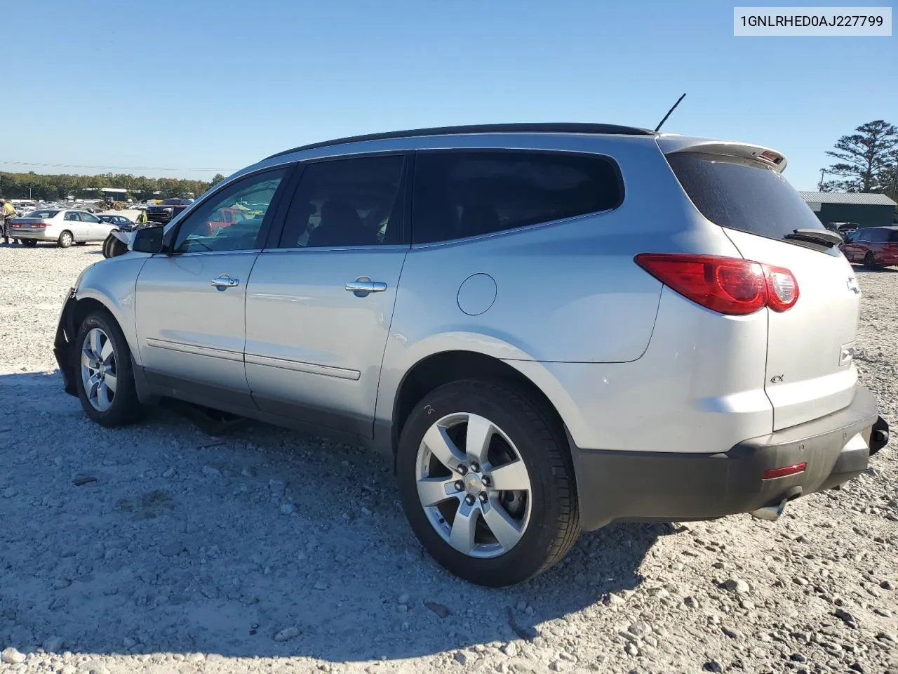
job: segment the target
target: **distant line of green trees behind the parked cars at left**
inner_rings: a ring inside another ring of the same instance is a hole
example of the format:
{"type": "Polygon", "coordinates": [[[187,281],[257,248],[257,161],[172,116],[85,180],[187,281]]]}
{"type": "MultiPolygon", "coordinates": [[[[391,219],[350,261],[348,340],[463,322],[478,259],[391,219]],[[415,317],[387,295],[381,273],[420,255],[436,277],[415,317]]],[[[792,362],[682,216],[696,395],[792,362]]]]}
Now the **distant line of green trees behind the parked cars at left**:
{"type": "MultiPolygon", "coordinates": [[[[169,197],[198,197],[211,185],[224,180],[217,174],[211,182],[178,178],[147,178],[129,173],[102,175],[72,175],[43,173],[0,172],[0,196],[6,199],[59,200],[67,196],[101,198],[101,187],[128,190],[126,199],[167,199],[169,197]]],[[[118,199],[118,197],[117,197],[118,199]]]]}

